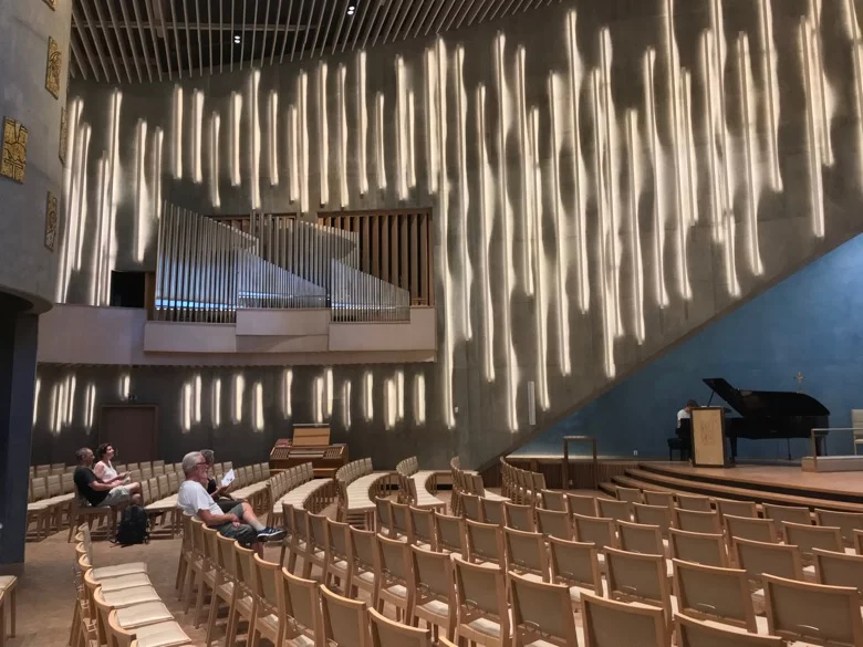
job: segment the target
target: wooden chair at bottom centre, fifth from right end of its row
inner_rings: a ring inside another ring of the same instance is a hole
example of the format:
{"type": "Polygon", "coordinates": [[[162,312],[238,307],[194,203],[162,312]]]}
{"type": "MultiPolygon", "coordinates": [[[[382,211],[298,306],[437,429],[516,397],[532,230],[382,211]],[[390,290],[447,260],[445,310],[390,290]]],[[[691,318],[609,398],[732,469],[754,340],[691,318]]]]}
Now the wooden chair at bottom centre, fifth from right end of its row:
{"type": "Polygon", "coordinates": [[[407,619],[414,626],[419,620],[432,625],[435,638],[439,638],[438,628],[444,628],[451,640],[458,611],[453,559],[446,553],[410,546],[410,561],[414,606],[407,619]]]}

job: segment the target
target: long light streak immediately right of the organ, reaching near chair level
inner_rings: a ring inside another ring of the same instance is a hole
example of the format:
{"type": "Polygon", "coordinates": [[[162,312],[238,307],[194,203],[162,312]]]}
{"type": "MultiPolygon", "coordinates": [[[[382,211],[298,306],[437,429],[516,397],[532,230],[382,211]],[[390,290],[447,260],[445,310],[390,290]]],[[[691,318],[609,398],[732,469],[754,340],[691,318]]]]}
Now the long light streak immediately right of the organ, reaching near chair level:
{"type": "MultiPolygon", "coordinates": [[[[446,176],[445,169],[447,168],[447,51],[444,40],[438,38],[435,42],[435,51],[437,53],[437,62],[435,69],[437,71],[437,138],[438,146],[438,160],[440,164],[440,177],[439,191],[438,191],[438,209],[440,211],[440,218],[438,219],[440,225],[439,239],[441,241],[449,240],[449,180],[446,176]]],[[[448,246],[440,246],[440,279],[444,284],[444,334],[441,340],[443,357],[440,362],[440,372],[443,376],[443,385],[440,389],[440,404],[444,408],[441,411],[444,415],[444,424],[448,429],[453,429],[456,426],[456,417],[453,411],[453,354],[455,349],[455,341],[453,338],[453,280],[449,271],[449,251],[448,246]]]]}

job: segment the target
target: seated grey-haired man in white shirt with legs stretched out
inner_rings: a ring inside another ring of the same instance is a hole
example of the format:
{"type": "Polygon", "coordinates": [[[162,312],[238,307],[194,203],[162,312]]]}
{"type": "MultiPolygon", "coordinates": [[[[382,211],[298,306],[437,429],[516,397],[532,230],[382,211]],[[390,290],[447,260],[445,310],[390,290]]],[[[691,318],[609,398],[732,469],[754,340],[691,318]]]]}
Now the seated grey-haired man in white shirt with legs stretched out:
{"type": "Polygon", "coordinates": [[[208,528],[216,529],[223,536],[236,539],[245,546],[278,541],[284,536],[283,530],[263,525],[248,503],[238,501],[230,512],[222,512],[205,488],[207,461],[200,451],[183,457],[183,472],[186,480],[180,484],[177,494],[177,508],[183,509],[186,514],[197,516],[208,528]]]}

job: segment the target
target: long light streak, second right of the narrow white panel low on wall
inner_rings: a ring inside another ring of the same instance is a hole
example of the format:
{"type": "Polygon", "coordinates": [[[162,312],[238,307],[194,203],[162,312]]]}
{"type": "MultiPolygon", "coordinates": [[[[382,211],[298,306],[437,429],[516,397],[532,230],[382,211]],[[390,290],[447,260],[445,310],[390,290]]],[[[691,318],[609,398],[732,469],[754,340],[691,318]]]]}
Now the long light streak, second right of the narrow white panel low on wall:
{"type": "MultiPolygon", "coordinates": [[[[558,90],[554,74],[549,74],[549,123],[551,131],[551,204],[554,213],[554,239],[557,250],[554,254],[554,283],[557,290],[558,313],[558,361],[562,375],[569,375],[572,371],[570,363],[570,296],[566,292],[566,274],[570,267],[569,259],[569,232],[566,223],[563,220],[563,207],[560,195],[560,165],[561,137],[560,124],[558,121],[558,90]]],[[[573,153],[578,157],[579,153],[573,153]]],[[[573,160],[578,166],[578,159],[573,160]]],[[[578,188],[575,189],[578,191],[578,188]]]]}

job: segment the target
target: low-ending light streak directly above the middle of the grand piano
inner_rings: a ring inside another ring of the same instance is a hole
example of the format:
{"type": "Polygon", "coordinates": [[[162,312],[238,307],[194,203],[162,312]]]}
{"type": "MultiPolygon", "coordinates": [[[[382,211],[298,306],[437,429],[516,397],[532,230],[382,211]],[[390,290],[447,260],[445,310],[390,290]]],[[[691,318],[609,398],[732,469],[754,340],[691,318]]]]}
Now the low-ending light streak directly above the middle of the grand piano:
{"type": "Polygon", "coordinates": [[[761,265],[761,252],[758,246],[758,202],[761,196],[761,181],[756,178],[759,159],[758,152],[755,149],[752,138],[756,136],[756,117],[752,109],[750,97],[755,94],[749,58],[749,38],[741,33],[737,40],[737,69],[740,81],[741,115],[744,129],[744,149],[746,154],[746,185],[747,185],[747,208],[746,208],[746,246],[749,258],[749,269],[756,275],[763,273],[761,265]]]}

